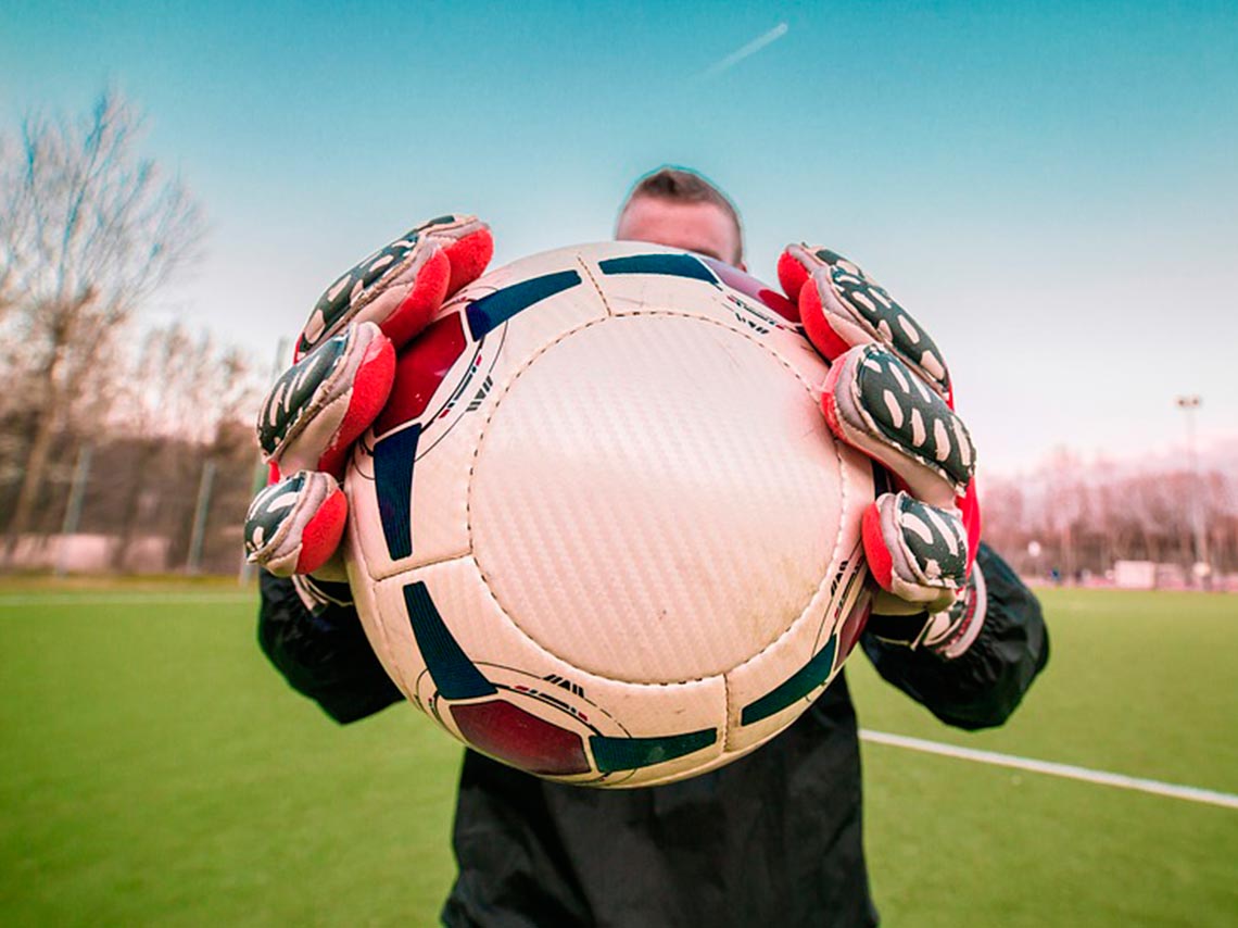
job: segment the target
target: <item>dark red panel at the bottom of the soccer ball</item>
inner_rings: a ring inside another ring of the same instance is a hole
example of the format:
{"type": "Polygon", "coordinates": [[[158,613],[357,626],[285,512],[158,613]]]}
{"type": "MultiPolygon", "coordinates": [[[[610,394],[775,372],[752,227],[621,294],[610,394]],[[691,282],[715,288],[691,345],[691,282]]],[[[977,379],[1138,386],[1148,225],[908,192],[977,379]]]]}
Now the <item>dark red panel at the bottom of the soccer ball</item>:
{"type": "Polygon", "coordinates": [[[591,769],[579,735],[506,700],[453,705],[451,712],[473,747],[530,773],[565,777],[591,769]]]}

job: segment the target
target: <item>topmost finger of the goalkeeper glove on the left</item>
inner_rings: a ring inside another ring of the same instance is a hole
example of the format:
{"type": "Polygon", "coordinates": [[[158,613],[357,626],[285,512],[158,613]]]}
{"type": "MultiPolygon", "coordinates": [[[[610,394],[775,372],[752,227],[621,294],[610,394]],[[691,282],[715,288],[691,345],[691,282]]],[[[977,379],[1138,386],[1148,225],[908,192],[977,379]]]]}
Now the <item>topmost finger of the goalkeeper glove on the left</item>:
{"type": "Polygon", "coordinates": [[[477,217],[422,223],[327,287],[297,339],[296,357],[353,321],[376,322],[399,348],[426,327],[449,292],[482,274],[493,253],[490,230],[477,217]]]}

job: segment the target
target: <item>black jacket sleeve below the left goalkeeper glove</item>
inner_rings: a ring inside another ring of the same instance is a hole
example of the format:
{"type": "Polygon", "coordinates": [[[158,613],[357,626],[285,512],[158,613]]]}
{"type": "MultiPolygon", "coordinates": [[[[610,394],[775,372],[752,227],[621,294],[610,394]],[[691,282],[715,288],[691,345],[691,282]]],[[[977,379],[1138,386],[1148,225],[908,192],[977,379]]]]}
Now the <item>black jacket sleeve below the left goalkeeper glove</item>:
{"type": "Polygon", "coordinates": [[[258,642],[292,689],[340,724],[404,699],[374,655],[353,606],[324,598],[311,610],[291,580],[265,570],[259,590],[258,642]]]}

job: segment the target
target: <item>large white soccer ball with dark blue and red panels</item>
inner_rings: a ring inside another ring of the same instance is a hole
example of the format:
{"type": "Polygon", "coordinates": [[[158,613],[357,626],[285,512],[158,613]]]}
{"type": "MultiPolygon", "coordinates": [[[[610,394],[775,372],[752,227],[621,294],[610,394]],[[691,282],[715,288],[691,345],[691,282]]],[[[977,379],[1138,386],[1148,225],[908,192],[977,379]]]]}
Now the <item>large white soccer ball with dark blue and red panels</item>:
{"type": "Polygon", "coordinates": [[[358,612],[396,685],[541,777],[666,783],[790,725],[868,615],[865,458],[795,307],[605,243],[463,290],[345,478],[358,612]]]}

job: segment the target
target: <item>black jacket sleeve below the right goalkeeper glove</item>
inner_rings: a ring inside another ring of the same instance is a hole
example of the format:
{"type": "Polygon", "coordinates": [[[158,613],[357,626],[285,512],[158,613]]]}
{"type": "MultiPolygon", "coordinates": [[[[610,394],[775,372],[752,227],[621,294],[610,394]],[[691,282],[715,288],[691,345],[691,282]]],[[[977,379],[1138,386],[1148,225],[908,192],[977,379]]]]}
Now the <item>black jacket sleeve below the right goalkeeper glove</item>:
{"type": "Polygon", "coordinates": [[[977,564],[988,591],[984,624],[972,646],[946,660],[873,634],[860,643],[877,672],[947,725],[976,730],[1002,725],[1049,660],[1040,602],[992,548],[977,564]]]}

